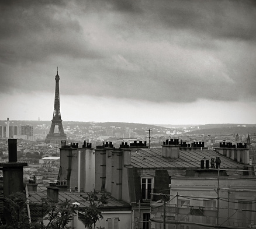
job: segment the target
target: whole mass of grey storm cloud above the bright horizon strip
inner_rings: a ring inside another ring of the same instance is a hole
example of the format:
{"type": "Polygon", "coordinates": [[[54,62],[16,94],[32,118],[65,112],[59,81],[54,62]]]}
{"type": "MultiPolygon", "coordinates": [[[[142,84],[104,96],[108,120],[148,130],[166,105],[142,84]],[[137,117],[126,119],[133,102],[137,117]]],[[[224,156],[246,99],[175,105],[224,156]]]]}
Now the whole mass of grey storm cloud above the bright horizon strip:
{"type": "Polygon", "coordinates": [[[2,2],[0,89],[50,90],[55,69],[40,70],[56,61],[63,94],[252,99],[255,10],[254,1],[226,0],[2,2]]]}

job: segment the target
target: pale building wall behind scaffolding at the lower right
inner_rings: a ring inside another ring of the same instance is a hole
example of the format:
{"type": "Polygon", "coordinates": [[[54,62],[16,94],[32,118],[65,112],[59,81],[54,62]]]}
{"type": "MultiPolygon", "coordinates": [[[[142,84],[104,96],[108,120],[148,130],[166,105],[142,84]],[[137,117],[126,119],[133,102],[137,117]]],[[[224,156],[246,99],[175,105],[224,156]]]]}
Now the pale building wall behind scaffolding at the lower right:
{"type": "MultiPolygon", "coordinates": [[[[183,206],[183,211],[189,212],[190,206],[197,208],[204,207],[205,216],[184,214],[178,215],[178,220],[190,221],[192,223],[216,223],[217,207],[217,188],[219,190],[219,224],[238,227],[247,227],[249,223],[254,222],[256,210],[255,177],[220,177],[219,186],[217,178],[199,178],[199,177],[172,177],[170,206],[175,206],[181,201],[186,202],[188,206],[183,206]],[[240,202],[240,203],[239,203],[240,202]],[[240,210],[238,210],[240,209],[240,210]],[[207,212],[208,210],[208,212],[207,212]],[[208,217],[206,217],[208,216],[208,217]],[[230,217],[229,220],[227,220],[230,217]]],[[[181,206],[182,208],[182,206],[181,206]]],[[[182,210],[181,210],[182,211],[182,210]]],[[[167,212],[168,214],[168,212],[167,212]]],[[[170,214],[171,215],[171,214],[170,214]]],[[[171,216],[174,216],[172,214],[171,216]]],[[[153,217],[153,216],[152,216],[153,217]]],[[[155,228],[159,225],[153,223],[155,228]]],[[[196,228],[189,226],[189,228],[196,228]]]]}

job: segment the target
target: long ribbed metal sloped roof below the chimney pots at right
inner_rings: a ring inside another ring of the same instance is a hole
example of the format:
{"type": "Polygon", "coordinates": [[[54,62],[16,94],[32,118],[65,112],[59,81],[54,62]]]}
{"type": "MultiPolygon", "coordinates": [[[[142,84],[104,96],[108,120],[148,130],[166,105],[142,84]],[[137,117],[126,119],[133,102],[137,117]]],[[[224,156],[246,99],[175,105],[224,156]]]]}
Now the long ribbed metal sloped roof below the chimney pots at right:
{"type": "Polygon", "coordinates": [[[200,168],[201,160],[220,157],[222,168],[243,168],[244,164],[222,156],[216,150],[179,150],[179,158],[162,157],[162,148],[138,149],[131,153],[131,165],[136,168],[200,168]]]}

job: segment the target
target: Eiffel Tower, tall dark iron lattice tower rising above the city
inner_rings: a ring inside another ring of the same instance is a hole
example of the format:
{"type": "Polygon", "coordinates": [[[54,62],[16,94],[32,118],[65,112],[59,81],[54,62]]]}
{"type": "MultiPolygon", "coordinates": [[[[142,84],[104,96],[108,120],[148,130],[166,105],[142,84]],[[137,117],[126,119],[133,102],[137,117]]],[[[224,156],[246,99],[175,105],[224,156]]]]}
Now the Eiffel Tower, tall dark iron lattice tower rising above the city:
{"type": "Polygon", "coordinates": [[[58,76],[58,68],[57,75],[55,76],[56,86],[55,86],[55,100],[54,100],[54,110],[53,110],[53,119],[51,120],[51,128],[49,134],[46,136],[45,143],[61,143],[61,140],[67,140],[67,135],[64,133],[64,129],[62,126],[62,120],[60,115],[60,90],[58,86],[58,82],[60,81],[60,76],[58,76]],[[54,133],[56,130],[56,126],[58,127],[58,132],[54,133]]]}

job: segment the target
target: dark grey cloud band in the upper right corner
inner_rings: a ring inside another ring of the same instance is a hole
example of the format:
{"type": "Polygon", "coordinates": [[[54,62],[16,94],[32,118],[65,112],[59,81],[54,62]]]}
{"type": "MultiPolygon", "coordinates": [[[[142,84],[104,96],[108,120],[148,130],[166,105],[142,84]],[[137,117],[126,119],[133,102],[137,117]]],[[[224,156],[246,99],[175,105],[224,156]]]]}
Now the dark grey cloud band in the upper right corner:
{"type": "Polygon", "coordinates": [[[155,1],[147,9],[169,29],[190,30],[215,38],[256,37],[255,1],[155,1]]]}

